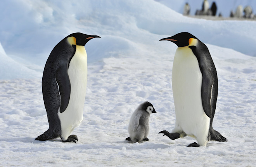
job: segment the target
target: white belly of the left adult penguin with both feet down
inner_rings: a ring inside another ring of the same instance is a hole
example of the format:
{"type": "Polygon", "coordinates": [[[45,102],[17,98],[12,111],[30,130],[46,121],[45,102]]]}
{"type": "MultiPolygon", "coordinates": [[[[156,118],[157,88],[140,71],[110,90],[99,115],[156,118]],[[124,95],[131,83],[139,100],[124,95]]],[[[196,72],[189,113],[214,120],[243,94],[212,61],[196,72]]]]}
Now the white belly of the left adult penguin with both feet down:
{"type": "Polygon", "coordinates": [[[69,63],[67,74],[71,83],[70,99],[66,110],[58,113],[62,140],[67,140],[83,120],[87,84],[87,54],[84,46],[76,46],[76,53],[69,63]]]}

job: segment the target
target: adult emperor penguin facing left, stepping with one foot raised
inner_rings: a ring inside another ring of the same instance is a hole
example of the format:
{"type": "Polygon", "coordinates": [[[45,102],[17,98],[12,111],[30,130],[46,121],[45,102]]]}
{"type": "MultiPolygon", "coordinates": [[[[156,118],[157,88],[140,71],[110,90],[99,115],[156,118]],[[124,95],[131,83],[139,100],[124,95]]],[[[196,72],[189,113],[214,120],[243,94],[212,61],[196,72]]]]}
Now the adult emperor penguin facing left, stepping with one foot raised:
{"type": "Polygon", "coordinates": [[[227,142],[227,138],[213,129],[218,78],[208,48],[188,32],[161,40],[175,43],[178,49],[172,70],[175,127],[171,133],[166,130],[159,133],[172,140],[186,135],[195,137],[198,143],[188,147],[206,146],[209,140],[227,142]]]}

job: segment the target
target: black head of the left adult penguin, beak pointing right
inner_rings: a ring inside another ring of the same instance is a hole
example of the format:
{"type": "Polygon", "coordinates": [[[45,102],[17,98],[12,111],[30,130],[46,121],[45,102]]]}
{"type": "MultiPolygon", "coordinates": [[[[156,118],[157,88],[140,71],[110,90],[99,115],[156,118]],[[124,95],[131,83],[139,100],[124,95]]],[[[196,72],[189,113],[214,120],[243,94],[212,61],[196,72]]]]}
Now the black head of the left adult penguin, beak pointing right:
{"type": "Polygon", "coordinates": [[[70,39],[69,37],[74,37],[71,41],[69,41],[70,44],[79,46],[85,46],[85,44],[93,38],[100,38],[98,35],[87,35],[80,32],[70,34],[66,38],[70,39]]]}

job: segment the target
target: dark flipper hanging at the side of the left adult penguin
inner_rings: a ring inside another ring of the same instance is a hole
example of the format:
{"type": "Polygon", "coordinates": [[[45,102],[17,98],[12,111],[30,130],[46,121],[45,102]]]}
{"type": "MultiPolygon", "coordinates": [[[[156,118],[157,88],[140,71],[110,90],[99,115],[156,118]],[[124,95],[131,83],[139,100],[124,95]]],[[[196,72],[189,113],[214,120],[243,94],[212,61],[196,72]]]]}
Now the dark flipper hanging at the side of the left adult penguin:
{"type": "Polygon", "coordinates": [[[59,67],[56,74],[56,81],[59,86],[59,93],[61,96],[60,112],[63,113],[67,108],[71,93],[71,84],[67,74],[67,66],[59,67]]]}

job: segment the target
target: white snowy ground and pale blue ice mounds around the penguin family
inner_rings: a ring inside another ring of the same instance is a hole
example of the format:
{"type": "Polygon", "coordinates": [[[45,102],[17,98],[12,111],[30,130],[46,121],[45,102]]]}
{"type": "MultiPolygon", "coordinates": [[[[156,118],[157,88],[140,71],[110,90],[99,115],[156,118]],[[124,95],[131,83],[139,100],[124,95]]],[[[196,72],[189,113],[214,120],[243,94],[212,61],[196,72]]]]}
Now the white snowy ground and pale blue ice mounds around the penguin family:
{"type": "Polygon", "coordinates": [[[183,17],[153,0],[5,0],[0,13],[0,166],[255,166],[256,22],[183,17]],[[228,142],[194,148],[186,147],[194,138],[158,134],[175,124],[176,50],[159,39],[183,31],[211,53],[219,82],[213,128],[228,142]],[[73,132],[79,141],[35,141],[48,129],[43,67],[73,32],[101,37],[85,46],[84,120],[73,132]],[[149,141],[128,143],[131,114],[144,101],[157,111],[150,116],[149,141]]]}

